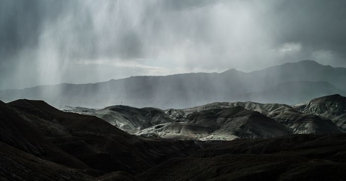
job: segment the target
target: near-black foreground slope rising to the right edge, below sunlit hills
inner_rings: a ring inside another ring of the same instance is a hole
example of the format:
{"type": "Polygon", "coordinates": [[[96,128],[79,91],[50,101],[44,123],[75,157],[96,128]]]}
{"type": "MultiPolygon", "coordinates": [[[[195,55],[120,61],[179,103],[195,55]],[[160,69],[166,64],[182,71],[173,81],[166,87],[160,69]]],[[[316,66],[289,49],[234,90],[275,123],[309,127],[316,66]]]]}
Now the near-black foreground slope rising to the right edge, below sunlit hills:
{"type": "Polygon", "coordinates": [[[137,175],[141,181],[345,180],[346,135],[233,140],[173,158],[137,175]]]}

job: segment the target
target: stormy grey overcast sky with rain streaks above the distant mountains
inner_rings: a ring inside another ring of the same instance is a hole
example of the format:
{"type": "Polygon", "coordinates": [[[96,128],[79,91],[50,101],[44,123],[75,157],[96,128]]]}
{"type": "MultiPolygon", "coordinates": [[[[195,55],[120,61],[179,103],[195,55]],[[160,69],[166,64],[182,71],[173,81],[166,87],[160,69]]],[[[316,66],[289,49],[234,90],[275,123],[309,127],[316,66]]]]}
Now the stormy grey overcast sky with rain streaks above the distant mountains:
{"type": "Polygon", "coordinates": [[[0,89],[346,67],[346,0],[0,0],[0,89]]]}

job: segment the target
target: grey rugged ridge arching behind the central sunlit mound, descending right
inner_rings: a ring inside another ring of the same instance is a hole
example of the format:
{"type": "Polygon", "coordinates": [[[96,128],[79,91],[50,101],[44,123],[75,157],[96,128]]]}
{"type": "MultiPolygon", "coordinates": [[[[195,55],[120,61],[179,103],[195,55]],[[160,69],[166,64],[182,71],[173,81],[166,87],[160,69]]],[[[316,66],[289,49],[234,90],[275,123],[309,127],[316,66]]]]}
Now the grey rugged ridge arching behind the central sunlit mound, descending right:
{"type": "Polygon", "coordinates": [[[240,106],[248,110],[258,111],[259,113],[285,125],[293,134],[330,134],[341,133],[334,123],[326,118],[303,113],[292,106],[277,103],[257,103],[257,102],[215,102],[188,109],[168,109],[168,114],[174,120],[184,119],[192,113],[203,110],[217,108],[231,108],[240,106]]]}

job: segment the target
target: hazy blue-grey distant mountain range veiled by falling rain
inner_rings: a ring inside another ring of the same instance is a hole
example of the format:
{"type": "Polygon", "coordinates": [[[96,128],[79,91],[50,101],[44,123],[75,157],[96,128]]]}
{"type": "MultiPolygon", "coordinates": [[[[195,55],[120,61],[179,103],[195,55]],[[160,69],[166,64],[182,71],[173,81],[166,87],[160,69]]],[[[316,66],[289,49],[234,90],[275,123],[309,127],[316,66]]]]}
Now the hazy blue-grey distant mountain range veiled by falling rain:
{"type": "Polygon", "coordinates": [[[254,72],[137,76],[96,84],[59,84],[22,90],[1,90],[0,99],[40,99],[61,105],[186,108],[216,101],[297,104],[312,98],[346,95],[346,68],[315,61],[285,63],[254,72]]]}

